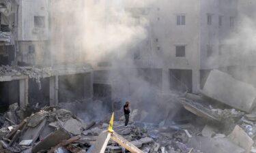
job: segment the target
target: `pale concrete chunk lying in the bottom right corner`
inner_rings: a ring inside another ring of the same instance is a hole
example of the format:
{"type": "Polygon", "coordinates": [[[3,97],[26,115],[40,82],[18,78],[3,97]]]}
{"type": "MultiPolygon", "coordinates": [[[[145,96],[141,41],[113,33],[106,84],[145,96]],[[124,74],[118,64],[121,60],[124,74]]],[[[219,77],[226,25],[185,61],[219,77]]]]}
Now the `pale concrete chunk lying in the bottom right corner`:
{"type": "Polygon", "coordinates": [[[244,148],[246,150],[245,153],[250,152],[251,147],[253,146],[253,139],[247,135],[246,132],[240,126],[236,125],[235,129],[230,133],[229,139],[236,143],[238,146],[244,148]]]}

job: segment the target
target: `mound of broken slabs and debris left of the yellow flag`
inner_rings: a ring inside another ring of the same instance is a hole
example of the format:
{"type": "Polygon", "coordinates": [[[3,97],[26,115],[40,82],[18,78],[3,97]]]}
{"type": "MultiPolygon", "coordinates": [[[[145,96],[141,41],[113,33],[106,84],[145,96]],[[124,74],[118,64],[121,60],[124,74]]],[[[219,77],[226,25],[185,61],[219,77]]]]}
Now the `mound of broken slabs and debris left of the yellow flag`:
{"type": "MultiPolygon", "coordinates": [[[[86,126],[82,120],[66,109],[44,107],[40,112],[25,118],[20,124],[7,128],[3,126],[0,130],[1,147],[3,152],[51,151],[51,148],[57,145],[61,147],[67,141],[80,139],[79,135],[86,126]]],[[[69,146],[69,148],[79,150],[79,147],[69,146]]]]}

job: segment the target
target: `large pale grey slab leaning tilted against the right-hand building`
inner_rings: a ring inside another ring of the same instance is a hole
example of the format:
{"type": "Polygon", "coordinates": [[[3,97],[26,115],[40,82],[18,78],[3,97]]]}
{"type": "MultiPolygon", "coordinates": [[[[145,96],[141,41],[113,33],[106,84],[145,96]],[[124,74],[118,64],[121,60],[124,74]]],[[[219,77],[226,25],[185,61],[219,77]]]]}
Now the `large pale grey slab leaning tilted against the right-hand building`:
{"type": "Polygon", "coordinates": [[[201,92],[207,97],[244,112],[251,112],[255,106],[255,87],[216,69],[210,72],[201,92]]]}

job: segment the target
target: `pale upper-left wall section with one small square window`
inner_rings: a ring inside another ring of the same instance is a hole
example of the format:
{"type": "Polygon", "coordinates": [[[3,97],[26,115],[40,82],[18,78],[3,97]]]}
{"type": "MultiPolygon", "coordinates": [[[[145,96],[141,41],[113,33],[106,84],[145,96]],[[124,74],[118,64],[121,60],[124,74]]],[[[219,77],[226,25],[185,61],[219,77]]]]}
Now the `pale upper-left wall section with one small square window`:
{"type": "Polygon", "coordinates": [[[18,41],[48,39],[48,0],[19,0],[18,41]]]}

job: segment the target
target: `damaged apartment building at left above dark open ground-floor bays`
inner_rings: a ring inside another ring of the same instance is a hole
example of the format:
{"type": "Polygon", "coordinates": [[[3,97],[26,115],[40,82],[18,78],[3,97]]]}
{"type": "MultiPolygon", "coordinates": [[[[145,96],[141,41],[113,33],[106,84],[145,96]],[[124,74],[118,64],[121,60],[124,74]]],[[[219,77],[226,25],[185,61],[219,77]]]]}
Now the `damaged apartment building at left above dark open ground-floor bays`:
{"type": "MultiPolygon", "coordinates": [[[[71,2],[67,0],[63,5],[68,8],[71,2]]],[[[57,105],[92,96],[91,66],[77,63],[75,57],[67,62],[68,59],[58,56],[75,53],[76,48],[66,45],[73,46],[68,40],[74,31],[72,22],[66,24],[63,16],[72,12],[59,12],[59,5],[55,3],[57,1],[0,1],[0,64],[14,66],[0,67],[1,107],[18,103],[25,109],[29,104],[57,105]]],[[[81,3],[75,4],[74,7],[81,3]]]]}

